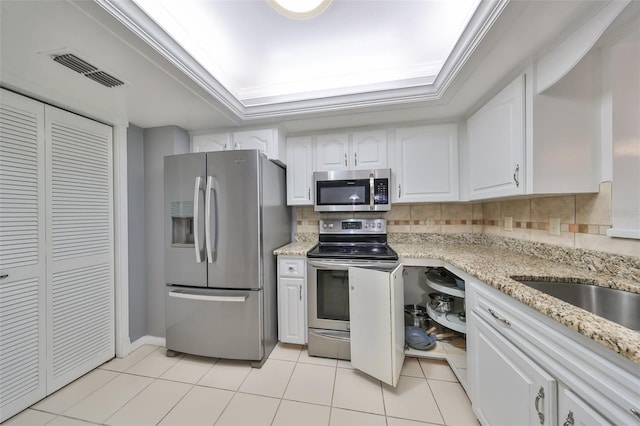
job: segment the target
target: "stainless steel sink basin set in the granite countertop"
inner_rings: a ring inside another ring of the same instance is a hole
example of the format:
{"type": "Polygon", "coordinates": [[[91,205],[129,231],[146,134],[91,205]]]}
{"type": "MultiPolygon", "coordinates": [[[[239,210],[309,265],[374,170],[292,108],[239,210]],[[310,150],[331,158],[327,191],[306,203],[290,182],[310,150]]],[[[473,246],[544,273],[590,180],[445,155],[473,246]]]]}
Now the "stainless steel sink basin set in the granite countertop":
{"type": "Polygon", "coordinates": [[[638,293],[592,284],[517,281],[609,321],[640,331],[640,294],[638,293]]]}

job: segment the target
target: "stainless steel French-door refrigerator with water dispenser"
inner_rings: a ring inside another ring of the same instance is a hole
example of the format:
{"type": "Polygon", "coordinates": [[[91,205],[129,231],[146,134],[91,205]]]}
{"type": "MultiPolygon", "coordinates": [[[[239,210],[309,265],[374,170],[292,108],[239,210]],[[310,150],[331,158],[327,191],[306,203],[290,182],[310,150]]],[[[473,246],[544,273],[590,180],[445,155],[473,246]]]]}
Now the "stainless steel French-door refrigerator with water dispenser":
{"type": "Polygon", "coordinates": [[[285,171],[257,150],[165,157],[167,354],[252,361],[277,342],[285,171]]]}

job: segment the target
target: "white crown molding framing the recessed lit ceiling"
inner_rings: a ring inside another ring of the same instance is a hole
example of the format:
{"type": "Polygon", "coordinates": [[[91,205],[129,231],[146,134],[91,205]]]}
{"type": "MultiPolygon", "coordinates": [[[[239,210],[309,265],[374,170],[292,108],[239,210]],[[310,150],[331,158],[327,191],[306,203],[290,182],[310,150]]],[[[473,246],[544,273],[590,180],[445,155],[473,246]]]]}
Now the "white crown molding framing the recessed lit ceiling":
{"type": "MultiPolygon", "coordinates": [[[[439,101],[510,2],[493,0],[480,3],[435,80],[431,75],[351,87],[347,89],[348,93],[335,89],[243,100],[234,95],[239,93],[237,90],[221,84],[133,1],[94,1],[243,121],[439,101]],[[403,87],[397,87],[398,84],[403,87]],[[354,93],[354,90],[358,92],[354,93]]],[[[251,96],[258,96],[258,93],[255,91],[251,96]]]]}

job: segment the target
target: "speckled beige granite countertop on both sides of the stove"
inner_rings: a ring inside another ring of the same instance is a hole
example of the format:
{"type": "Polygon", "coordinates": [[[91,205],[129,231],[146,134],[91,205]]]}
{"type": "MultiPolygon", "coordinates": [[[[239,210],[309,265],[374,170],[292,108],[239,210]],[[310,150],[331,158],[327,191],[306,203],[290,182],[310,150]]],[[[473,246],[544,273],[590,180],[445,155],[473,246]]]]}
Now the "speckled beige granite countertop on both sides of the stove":
{"type": "MultiPolygon", "coordinates": [[[[276,255],[305,256],[316,241],[300,241],[274,251],[276,255]]],[[[581,282],[640,293],[640,283],[614,274],[596,272],[568,263],[546,260],[503,247],[459,240],[398,243],[390,242],[401,259],[444,261],[478,278],[593,341],[640,364],[640,332],[618,325],[576,306],[546,295],[513,280],[581,282]]]]}

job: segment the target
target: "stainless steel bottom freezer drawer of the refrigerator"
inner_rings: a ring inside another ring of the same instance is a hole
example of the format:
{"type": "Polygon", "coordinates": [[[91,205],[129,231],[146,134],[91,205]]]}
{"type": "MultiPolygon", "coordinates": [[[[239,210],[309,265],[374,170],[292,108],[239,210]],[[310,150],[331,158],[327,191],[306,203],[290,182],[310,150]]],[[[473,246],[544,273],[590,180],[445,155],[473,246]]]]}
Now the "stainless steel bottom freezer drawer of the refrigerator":
{"type": "Polygon", "coordinates": [[[264,356],[263,290],[167,287],[167,349],[215,358],[264,356]]]}

